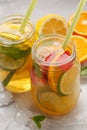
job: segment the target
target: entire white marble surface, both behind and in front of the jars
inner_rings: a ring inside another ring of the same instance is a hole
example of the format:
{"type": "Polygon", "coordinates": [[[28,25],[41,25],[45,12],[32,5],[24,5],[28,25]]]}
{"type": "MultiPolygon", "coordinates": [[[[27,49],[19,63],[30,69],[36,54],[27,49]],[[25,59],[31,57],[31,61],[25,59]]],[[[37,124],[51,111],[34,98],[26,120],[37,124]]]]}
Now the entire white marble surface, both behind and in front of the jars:
{"type": "MultiPolygon", "coordinates": [[[[25,14],[29,0],[0,0],[0,18],[10,14],[25,14]]],[[[67,20],[76,10],[79,0],[38,0],[31,16],[35,23],[40,17],[57,13],[67,20]]],[[[87,10],[87,4],[84,8],[87,10]]],[[[41,130],[87,130],[87,79],[81,79],[81,94],[76,108],[66,116],[46,118],[41,130]]],[[[39,114],[31,92],[12,94],[0,85],[0,130],[37,130],[31,117],[39,114]]]]}

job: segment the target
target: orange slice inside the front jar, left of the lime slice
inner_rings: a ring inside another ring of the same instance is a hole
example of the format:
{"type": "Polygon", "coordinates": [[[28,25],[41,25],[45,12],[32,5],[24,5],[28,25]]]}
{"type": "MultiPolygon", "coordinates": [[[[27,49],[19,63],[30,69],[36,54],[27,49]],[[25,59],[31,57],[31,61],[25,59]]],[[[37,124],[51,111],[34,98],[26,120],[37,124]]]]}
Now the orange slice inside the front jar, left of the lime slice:
{"type": "MultiPolygon", "coordinates": [[[[62,56],[63,54],[64,54],[64,50],[61,48],[61,52],[59,52],[59,54],[57,54],[53,58],[51,63],[57,63],[58,58],[60,56],[62,56]]],[[[68,58],[66,55],[65,55],[65,57],[68,58]]],[[[64,59],[62,59],[62,57],[61,57],[61,60],[64,60],[64,59]]],[[[53,91],[60,93],[58,84],[59,84],[62,76],[64,75],[65,71],[68,70],[71,66],[72,66],[72,62],[69,62],[69,63],[67,63],[65,65],[61,65],[61,66],[50,65],[49,70],[48,70],[48,83],[49,83],[50,88],[53,91]]]]}

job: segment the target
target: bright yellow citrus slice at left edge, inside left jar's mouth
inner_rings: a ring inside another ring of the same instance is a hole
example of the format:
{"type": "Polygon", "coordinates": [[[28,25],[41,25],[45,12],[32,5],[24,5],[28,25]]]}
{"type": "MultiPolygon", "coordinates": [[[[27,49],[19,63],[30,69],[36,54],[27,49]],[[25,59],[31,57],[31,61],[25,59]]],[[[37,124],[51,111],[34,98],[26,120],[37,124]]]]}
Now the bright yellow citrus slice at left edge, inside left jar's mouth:
{"type": "Polygon", "coordinates": [[[12,34],[8,32],[0,32],[0,36],[9,40],[19,40],[20,36],[17,34],[12,34]]]}

